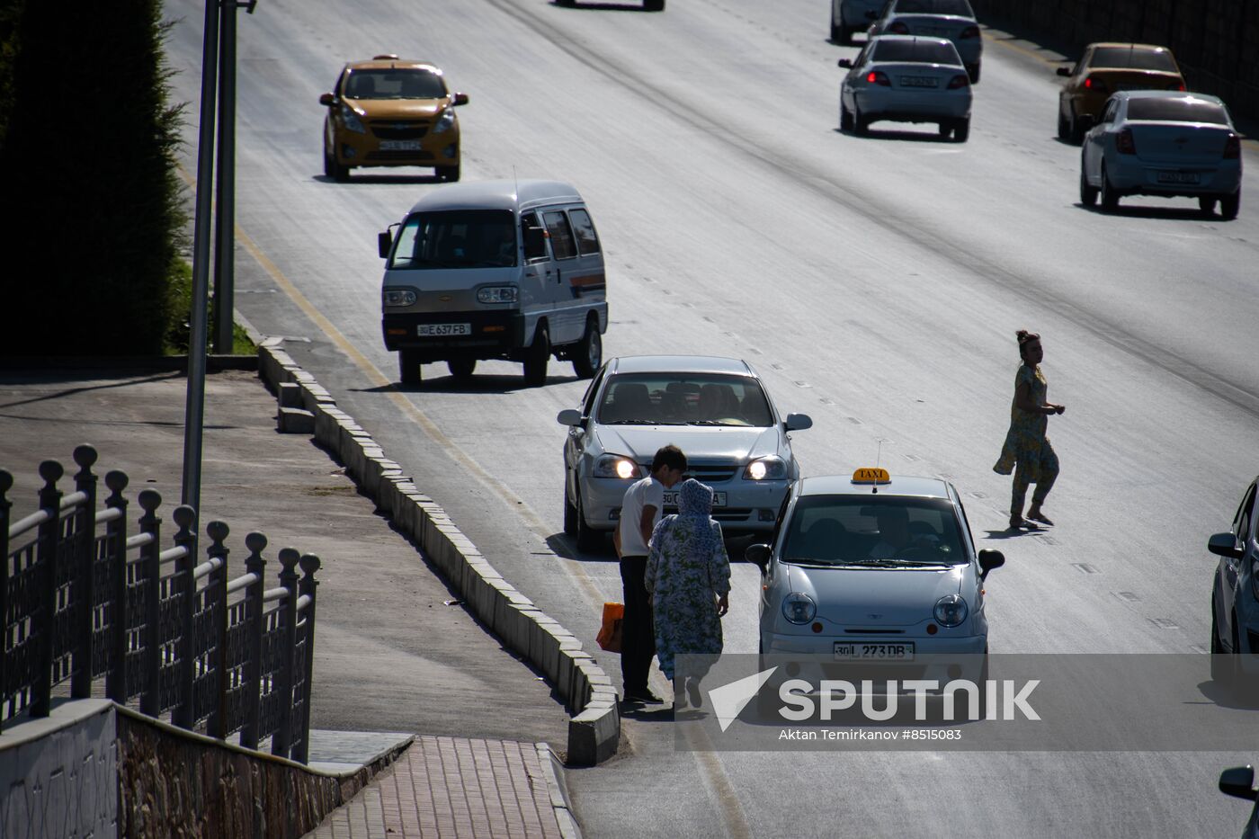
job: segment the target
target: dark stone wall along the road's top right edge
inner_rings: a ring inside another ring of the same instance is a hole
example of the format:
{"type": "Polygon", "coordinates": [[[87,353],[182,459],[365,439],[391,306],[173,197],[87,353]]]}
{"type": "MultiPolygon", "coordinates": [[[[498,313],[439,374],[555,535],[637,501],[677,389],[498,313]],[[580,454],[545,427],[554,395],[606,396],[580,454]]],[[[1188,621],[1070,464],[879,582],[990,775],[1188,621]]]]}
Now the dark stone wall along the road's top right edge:
{"type": "Polygon", "coordinates": [[[1074,50],[1098,40],[1170,47],[1191,91],[1234,118],[1259,118],[1259,3],[1238,0],[971,0],[981,23],[1074,50]]]}

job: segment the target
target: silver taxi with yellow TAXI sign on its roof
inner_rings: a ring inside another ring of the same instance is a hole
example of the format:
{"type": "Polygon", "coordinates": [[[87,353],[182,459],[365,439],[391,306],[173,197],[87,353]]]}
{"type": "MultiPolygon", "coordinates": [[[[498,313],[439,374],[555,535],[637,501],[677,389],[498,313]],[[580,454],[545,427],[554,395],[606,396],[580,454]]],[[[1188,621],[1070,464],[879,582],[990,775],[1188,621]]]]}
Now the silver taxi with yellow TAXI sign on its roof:
{"type": "Polygon", "coordinates": [[[762,655],[987,661],[983,583],[1005,557],[976,551],[948,481],[878,467],[802,479],[745,558],[762,572],[762,655]]]}

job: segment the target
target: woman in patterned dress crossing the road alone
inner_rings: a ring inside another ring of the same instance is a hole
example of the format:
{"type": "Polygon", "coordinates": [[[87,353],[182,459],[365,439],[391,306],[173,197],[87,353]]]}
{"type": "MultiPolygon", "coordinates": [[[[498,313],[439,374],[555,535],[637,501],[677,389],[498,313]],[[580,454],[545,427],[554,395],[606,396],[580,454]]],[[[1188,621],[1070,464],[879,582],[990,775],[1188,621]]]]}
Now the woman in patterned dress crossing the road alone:
{"type": "Polygon", "coordinates": [[[1027,527],[1022,506],[1024,499],[1027,496],[1029,484],[1035,484],[1036,491],[1032,493],[1027,518],[1041,524],[1053,524],[1040,509],[1058,479],[1058,455],[1054,454],[1054,447],[1049,443],[1045,431],[1049,427],[1050,414],[1066,411],[1065,406],[1045,401],[1049,385],[1045,382],[1045,374],[1040,372],[1040,363],[1045,358],[1045,350],[1040,345],[1040,335],[1025,329],[1020,329],[1016,335],[1022,365],[1015,377],[1015,399],[1010,406],[1010,433],[1006,435],[1006,445],[1001,448],[1001,457],[992,467],[995,472],[1001,475],[1008,475],[1011,471],[1015,474],[1013,494],[1010,503],[1011,529],[1027,527]]]}

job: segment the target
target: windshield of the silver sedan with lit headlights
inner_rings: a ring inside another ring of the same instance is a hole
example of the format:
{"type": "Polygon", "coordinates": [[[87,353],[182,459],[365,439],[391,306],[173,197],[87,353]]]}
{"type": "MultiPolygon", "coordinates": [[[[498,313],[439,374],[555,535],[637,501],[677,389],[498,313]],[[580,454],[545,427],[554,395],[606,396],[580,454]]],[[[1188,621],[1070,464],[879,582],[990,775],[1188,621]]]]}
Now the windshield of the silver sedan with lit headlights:
{"type": "Polygon", "coordinates": [[[773,425],[769,401],[750,375],[626,373],[603,389],[598,421],[631,426],[773,425]]]}

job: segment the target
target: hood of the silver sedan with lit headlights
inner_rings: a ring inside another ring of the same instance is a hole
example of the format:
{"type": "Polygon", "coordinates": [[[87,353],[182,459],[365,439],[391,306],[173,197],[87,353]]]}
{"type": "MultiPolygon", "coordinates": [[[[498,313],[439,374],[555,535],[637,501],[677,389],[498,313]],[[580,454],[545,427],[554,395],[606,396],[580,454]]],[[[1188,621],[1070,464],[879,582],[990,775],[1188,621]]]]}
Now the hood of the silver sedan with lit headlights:
{"type": "Polygon", "coordinates": [[[744,462],[778,454],[778,428],[738,426],[599,426],[603,451],[650,464],[656,450],[670,443],[696,462],[730,460],[744,462]]]}

